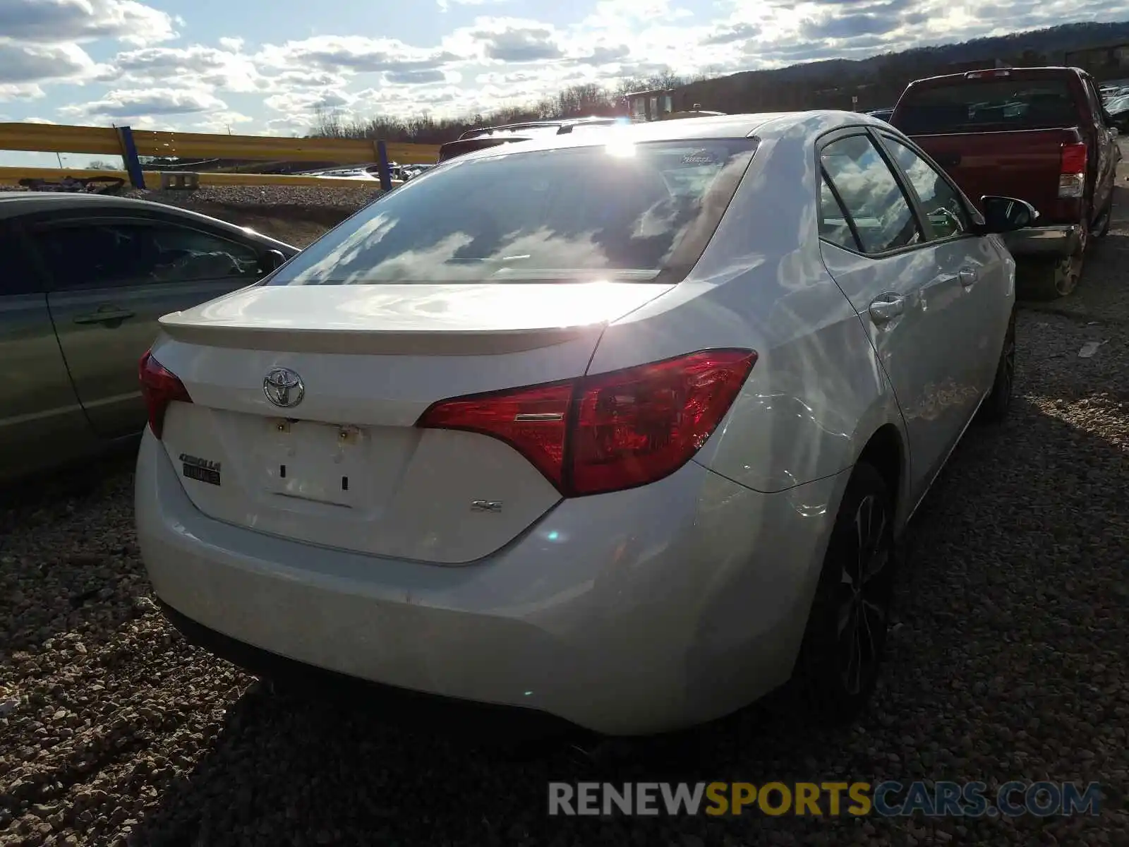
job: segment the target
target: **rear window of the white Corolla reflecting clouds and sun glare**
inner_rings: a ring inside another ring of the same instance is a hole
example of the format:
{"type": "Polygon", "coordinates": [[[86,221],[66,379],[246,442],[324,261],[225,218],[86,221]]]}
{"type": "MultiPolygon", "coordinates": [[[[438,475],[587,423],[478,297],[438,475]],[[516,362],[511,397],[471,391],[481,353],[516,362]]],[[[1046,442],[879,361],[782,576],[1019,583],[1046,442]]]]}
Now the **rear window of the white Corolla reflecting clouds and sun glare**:
{"type": "Polygon", "coordinates": [[[649,281],[692,265],[753,139],[607,145],[454,159],[362,209],[266,281],[649,281]]]}

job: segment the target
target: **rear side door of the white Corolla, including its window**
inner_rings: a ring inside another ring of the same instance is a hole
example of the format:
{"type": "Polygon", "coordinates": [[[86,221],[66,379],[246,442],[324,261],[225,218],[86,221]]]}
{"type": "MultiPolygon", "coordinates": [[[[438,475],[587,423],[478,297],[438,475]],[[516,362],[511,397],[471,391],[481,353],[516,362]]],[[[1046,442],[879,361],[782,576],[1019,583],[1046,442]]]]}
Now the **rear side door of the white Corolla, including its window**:
{"type": "Polygon", "coordinates": [[[925,491],[964,426],[952,398],[966,384],[956,274],[927,241],[895,169],[865,128],[822,139],[820,236],[890,377],[909,437],[911,498],[925,491]]]}

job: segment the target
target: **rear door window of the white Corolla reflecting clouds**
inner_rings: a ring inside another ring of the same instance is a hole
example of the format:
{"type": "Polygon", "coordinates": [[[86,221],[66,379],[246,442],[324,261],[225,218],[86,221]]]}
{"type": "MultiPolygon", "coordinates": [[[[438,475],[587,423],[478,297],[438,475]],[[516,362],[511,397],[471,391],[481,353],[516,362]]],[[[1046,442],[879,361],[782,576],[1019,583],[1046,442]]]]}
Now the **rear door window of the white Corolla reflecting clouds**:
{"type": "Polygon", "coordinates": [[[921,230],[904,192],[868,136],[849,136],[820,154],[865,253],[920,244],[921,230]]]}

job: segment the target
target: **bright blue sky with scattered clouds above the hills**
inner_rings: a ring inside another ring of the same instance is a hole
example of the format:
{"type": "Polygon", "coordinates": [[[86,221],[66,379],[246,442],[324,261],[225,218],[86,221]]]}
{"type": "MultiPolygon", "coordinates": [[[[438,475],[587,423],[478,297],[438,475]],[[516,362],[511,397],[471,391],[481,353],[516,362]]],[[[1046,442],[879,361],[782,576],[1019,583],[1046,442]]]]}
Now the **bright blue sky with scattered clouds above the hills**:
{"type": "Polygon", "coordinates": [[[1129,0],[0,0],[0,121],[289,136],[318,107],[467,114],[1127,17],[1129,0]]]}

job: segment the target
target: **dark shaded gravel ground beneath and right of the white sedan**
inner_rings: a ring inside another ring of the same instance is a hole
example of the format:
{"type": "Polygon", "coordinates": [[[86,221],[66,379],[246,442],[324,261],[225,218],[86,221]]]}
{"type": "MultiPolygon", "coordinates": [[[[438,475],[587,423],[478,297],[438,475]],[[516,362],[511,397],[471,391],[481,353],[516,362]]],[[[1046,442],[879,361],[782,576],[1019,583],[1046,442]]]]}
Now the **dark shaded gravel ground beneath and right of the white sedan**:
{"type": "MultiPolygon", "coordinates": [[[[1040,346],[1021,341],[1024,357],[1042,355],[1040,346]]],[[[812,731],[770,700],[676,739],[558,742],[519,758],[403,732],[364,702],[256,684],[131,842],[1129,842],[1124,817],[1109,811],[1017,820],[546,813],[550,780],[1049,778],[1101,781],[1105,809],[1123,806],[1124,445],[1056,413],[1040,400],[1048,387],[1021,385],[1027,396],[1006,425],[970,430],[914,519],[885,681],[854,726],[812,731]]],[[[1082,402],[1065,395],[1064,409],[1082,402]]]]}

